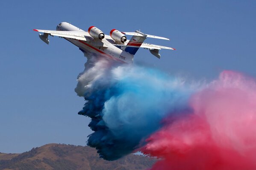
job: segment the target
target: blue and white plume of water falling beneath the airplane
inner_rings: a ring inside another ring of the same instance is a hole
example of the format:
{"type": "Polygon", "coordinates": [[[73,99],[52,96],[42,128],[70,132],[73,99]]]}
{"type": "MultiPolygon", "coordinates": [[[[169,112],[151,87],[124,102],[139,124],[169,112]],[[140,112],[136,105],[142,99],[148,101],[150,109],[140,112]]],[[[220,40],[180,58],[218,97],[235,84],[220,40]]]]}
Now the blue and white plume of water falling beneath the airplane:
{"type": "Polygon", "coordinates": [[[187,109],[191,89],[161,71],[89,58],[75,89],[85,98],[78,114],[91,118],[88,145],[106,160],[144,144],[168,114],[187,109]]]}

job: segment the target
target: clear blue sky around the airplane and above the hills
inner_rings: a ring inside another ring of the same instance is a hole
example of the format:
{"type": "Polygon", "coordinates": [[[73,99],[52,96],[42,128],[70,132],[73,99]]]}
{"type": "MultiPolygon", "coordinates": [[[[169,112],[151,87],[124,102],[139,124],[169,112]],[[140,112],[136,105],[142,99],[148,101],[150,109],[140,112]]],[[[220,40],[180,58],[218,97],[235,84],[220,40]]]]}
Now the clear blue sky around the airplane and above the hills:
{"type": "Polygon", "coordinates": [[[44,0],[0,2],[0,152],[21,153],[47,143],[86,145],[89,119],[77,114],[74,92],[85,57],[70,42],[32,29],[69,22],[105,34],[140,29],[171,38],[147,42],[177,48],[161,59],[139,49],[135,62],[188,79],[214,79],[224,70],[256,77],[255,0],[44,0]]]}

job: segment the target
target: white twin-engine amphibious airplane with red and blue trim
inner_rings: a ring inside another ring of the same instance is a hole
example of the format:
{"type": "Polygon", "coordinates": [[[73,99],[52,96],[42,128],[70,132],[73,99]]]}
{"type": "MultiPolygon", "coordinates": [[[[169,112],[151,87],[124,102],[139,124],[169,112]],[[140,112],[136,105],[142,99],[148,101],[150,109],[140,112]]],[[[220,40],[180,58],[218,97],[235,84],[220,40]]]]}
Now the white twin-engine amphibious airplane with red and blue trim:
{"type": "Polygon", "coordinates": [[[158,37],[149,34],[143,34],[140,31],[121,32],[116,29],[110,31],[110,35],[105,35],[99,28],[91,26],[88,32],[84,31],[70,23],[62,22],[54,30],[33,29],[44,34],[39,34],[42,41],[49,44],[48,35],[58,36],[68,40],[81,50],[85,57],[91,55],[99,55],[108,57],[121,62],[132,63],[134,54],[138,48],[149,49],[150,53],[160,59],[159,50],[175,48],[165,47],[161,45],[153,45],[144,43],[146,38],[157,38],[162,40],[170,40],[164,37],[158,37]],[[131,35],[131,39],[127,40],[126,35],[131,35]]]}

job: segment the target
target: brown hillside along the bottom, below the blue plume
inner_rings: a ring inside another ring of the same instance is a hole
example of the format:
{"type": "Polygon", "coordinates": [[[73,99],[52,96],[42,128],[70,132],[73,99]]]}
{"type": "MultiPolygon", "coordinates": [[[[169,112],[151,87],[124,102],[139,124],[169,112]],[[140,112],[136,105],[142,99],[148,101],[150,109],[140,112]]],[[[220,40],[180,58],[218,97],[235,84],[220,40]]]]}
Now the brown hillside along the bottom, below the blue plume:
{"type": "Polygon", "coordinates": [[[46,144],[21,154],[0,153],[0,170],[144,170],[154,162],[133,154],[105,161],[94,148],[67,144],[46,144]]]}

